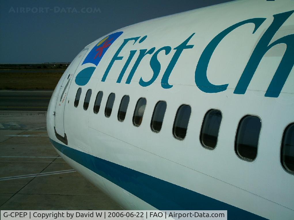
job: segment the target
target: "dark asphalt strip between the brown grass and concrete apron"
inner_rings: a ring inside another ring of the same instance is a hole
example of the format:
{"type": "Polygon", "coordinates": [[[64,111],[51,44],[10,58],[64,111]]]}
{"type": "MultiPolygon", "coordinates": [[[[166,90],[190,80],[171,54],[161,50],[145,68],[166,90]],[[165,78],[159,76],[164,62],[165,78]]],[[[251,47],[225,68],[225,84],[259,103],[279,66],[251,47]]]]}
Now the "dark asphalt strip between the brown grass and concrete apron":
{"type": "Polygon", "coordinates": [[[0,90],[0,110],[46,111],[53,90],[0,90]]]}

